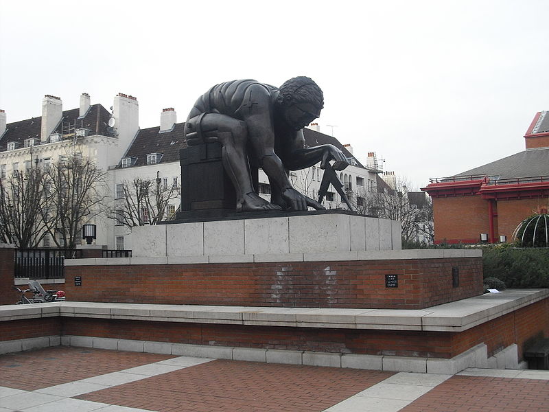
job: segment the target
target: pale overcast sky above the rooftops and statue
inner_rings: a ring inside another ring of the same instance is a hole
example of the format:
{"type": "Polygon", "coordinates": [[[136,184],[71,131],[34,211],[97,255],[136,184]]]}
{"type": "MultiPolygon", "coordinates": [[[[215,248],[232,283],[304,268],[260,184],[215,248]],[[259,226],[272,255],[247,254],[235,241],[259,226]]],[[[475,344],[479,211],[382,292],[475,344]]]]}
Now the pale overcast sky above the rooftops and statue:
{"type": "Polygon", "coordinates": [[[423,187],[524,150],[549,110],[549,1],[0,0],[0,108],[139,100],[184,122],[213,84],[313,78],[320,131],[423,187]],[[334,126],[329,127],[327,125],[334,126]]]}

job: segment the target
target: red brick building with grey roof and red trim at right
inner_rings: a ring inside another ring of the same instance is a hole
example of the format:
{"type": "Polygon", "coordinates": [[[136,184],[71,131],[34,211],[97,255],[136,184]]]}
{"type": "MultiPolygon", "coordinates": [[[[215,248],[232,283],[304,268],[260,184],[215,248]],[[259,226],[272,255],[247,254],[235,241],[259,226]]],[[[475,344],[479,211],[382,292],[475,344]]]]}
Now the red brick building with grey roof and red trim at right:
{"type": "Polygon", "coordinates": [[[433,199],[435,243],[511,242],[524,218],[548,208],[549,112],[536,113],[524,139],[523,152],[421,189],[433,199]]]}

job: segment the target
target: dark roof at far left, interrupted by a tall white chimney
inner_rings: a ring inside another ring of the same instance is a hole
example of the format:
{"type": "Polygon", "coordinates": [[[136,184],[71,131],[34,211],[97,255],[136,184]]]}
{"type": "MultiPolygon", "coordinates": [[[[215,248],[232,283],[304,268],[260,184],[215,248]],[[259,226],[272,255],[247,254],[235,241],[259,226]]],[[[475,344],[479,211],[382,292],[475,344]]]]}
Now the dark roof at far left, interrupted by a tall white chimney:
{"type": "MultiPolygon", "coordinates": [[[[63,111],[62,121],[53,133],[61,133],[62,138],[66,139],[73,137],[75,128],[89,128],[93,135],[108,135],[106,128],[110,113],[101,104],[91,105],[84,117],[80,118],[79,115],[80,108],[63,111]]],[[[0,151],[7,150],[8,142],[14,141],[23,147],[25,139],[40,139],[41,127],[41,116],[8,123],[5,133],[0,137],[0,151]]]]}

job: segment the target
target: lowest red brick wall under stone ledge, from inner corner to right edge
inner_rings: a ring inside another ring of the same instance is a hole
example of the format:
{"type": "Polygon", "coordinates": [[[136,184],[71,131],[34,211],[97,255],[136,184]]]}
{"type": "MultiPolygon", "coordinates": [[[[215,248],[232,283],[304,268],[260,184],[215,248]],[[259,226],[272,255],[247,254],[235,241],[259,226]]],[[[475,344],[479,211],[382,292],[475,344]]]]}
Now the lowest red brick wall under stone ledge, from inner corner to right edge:
{"type": "Polygon", "coordinates": [[[522,358],[524,343],[528,339],[540,333],[549,336],[549,299],[465,332],[289,328],[65,317],[62,319],[62,333],[194,345],[433,358],[452,358],[479,343],[488,346],[491,356],[517,343],[519,358],[522,358]]]}

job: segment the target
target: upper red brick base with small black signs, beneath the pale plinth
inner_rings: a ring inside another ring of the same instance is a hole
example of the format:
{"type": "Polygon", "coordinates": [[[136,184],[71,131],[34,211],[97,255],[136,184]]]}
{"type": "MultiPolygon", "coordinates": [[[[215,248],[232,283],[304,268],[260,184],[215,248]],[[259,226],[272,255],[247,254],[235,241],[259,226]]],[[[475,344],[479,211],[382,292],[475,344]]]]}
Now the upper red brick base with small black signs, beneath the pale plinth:
{"type": "Polygon", "coordinates": [[[67,300],[93,302],[420,309],[482,294],[482,258],[67,266],[65,276],[67,300]]]}

